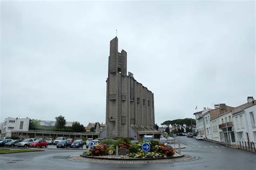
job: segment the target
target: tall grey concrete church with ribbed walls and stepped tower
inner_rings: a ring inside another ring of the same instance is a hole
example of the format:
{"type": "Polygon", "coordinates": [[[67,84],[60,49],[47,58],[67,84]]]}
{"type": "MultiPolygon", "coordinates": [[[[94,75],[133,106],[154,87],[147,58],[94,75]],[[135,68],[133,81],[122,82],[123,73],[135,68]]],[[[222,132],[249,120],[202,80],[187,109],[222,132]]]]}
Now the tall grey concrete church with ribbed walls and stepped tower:
{"type": "Polygon", "coordinates": [[[154,95],[132,73],[127,75],[127,53],[118,52],[117,37],[110,41],[106,86],[108,138],[134,137],[131,128],[136,125],[154,131],[154,95]]]}

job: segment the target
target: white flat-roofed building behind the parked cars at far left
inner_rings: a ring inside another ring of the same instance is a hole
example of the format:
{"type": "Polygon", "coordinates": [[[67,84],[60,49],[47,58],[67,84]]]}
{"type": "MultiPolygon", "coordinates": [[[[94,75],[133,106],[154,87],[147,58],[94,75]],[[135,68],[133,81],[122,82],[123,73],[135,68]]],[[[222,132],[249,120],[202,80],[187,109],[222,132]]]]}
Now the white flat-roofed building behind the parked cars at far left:
{"type": "Polygon", "coordinates": [[[6,118],[1,137],[11,137],[11,131],[29,131],[29,120],[29,118],[6,118]]]}

